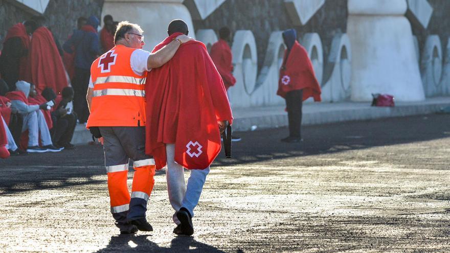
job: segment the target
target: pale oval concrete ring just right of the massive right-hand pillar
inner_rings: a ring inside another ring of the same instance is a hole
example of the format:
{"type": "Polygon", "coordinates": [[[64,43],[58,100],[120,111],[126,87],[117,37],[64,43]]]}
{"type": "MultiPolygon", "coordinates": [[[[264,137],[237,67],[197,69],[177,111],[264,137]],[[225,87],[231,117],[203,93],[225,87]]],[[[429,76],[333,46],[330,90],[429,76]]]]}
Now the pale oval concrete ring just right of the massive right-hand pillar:
{"type": "Polygon", "coordinates": [[[442,48],[438,35],[426,38],[420,61],[423,89],[425,96],[432,97],[442,94],[442,48]]]}

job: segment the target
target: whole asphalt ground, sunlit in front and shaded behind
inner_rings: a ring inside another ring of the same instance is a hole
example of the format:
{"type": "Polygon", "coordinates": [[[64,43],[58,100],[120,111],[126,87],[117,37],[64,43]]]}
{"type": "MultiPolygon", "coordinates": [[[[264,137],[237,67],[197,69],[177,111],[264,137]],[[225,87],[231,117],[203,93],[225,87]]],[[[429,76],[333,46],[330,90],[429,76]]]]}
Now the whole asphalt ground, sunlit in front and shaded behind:
{"type": "MultiPolygon", "coordinates": [[[[0,160],[4,252],[450,252],[450,116],[236,133],[214,162],[193,237],[172,234],[164,170],[147,218],[121,236],[100,145],[0,160]]],[[[186,172],[186,178],[188,177],[186,172]]],[[[128,183],[131,183],[130,169],[128,183]]]]}

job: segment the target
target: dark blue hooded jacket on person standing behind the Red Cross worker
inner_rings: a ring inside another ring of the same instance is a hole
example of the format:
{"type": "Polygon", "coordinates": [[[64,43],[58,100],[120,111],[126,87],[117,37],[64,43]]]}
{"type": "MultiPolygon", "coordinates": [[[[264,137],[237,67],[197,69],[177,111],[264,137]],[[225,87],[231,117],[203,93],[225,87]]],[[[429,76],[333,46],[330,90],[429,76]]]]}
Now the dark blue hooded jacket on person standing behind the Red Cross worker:
{"type": "MultiPolygon", "coordinates": [[[[87,19],[87,25],[97,30],[99,20],[91,16],[87,19]]],[[[72,37],[63,45],[65,52],[73,53],[75,49],[75,67],[90,70],[92,62],[100,54],[100,39],[97,32],[86,31],[87,29],[75,30],[72,37]]]]}

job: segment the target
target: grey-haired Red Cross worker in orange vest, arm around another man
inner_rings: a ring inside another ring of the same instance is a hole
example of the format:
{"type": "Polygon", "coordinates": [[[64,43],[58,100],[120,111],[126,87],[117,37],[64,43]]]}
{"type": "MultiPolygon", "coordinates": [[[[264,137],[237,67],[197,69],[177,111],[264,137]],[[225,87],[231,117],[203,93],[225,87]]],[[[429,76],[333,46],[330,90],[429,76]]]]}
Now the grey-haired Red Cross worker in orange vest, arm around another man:
{"type": "MultiPolygon", "coordinates": [[[[91,114],[86,127],[103,144],[111,213],[121,234],[153,231],[146,219],[153,189],[155,162],[145,154],[145,91],[147,72],[165,64],[180,43],[173,41],[158,52],[142,50],[144,31],[122,21],[116,46],[91,65],[87,103],[91,114]],[[134,161],[131,196],[127,187],[129,159],[134,161]]],[[[186,35],[177,38],[187,42],[186,35]]]]}

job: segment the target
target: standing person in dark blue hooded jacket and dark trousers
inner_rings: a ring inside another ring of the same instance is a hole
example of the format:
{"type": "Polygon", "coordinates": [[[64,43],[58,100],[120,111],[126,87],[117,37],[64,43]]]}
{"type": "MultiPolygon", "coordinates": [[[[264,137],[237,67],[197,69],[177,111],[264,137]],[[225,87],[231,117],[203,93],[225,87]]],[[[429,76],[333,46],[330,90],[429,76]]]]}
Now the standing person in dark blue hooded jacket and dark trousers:
{"type": "Polygon", "coordinates": [[[76,30],[63,45],[64,51],[72,54],[75,49],[75,75],[72,86],[75,91],[74,110],[80,123],[89,117],[86,102],[87,85],[91,77],[91,64],[100,54],[100,39],[97,34],[99,20],[95,16],[87,19],[86,25],[76,30]]]}

